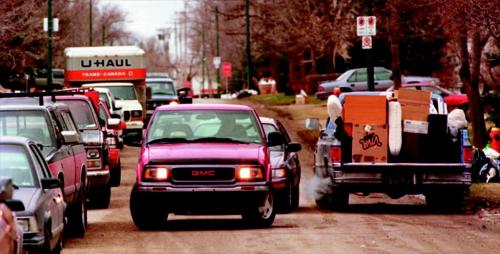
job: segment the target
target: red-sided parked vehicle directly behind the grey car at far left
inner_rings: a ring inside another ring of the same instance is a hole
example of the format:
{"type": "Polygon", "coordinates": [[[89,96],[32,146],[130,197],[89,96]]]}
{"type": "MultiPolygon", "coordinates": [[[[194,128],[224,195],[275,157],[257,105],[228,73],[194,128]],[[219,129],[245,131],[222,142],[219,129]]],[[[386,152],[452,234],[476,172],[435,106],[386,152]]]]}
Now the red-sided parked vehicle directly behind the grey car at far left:
{"type": "Polygon", "coordinates": [[[40,147],[52,175],[62,182],[69,232],[87,225],[87,156],[68,106],[45,103],[46,93],[0,94],[0,136],[22,136],[40,147]]]}

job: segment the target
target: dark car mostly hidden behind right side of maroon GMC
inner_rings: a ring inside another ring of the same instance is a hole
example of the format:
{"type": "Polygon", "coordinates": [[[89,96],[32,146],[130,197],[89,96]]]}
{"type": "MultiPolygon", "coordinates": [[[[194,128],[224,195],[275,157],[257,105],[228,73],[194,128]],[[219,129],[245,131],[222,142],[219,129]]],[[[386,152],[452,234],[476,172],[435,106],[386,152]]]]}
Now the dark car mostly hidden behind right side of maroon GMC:
{"type": "Polygon", "coordinates": [[[276,203],[284,211],[299,207],[300,161],[298,152],[302,149],[299,143],[291,141],[285,126],[278,120],[260,117],[266,135],[281,132],[285,136],[285,144],[269,147],[271,165],[273,167],[273,186],[276,192],[276,203]]]}

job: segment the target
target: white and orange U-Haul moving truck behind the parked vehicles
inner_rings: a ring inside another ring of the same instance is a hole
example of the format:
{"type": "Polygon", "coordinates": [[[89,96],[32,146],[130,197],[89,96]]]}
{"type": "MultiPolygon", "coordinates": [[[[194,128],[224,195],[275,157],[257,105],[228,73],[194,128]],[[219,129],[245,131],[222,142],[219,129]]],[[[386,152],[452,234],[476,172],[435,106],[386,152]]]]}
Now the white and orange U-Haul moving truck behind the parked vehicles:
{"type": "Polygon", "coordinates": [[[144,50],[136,46],[72,47],[64,55],[65,86],[108,88],[127,125],[125,141],[140,140],[146,115],[144,50]]]}

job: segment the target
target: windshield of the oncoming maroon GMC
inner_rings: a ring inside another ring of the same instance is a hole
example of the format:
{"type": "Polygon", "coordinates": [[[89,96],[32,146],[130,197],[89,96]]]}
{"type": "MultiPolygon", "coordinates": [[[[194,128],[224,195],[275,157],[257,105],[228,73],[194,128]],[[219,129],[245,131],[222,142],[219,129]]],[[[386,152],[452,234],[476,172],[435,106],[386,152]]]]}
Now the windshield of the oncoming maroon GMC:
{"type": "Polygon", "coordinates": [[[160,111],[152,120],[148,143],[220,142],[262,143],[250,111],[178,110],[160,111]]]}

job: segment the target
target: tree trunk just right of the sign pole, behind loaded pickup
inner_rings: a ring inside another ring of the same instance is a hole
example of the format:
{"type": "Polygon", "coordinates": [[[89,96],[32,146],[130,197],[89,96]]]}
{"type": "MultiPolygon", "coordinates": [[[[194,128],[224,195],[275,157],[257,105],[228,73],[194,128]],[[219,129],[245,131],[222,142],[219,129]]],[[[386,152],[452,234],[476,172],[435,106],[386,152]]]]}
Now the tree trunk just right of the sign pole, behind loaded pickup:
{"type": "Polygon", "coordinates": [[[394,82],[394,90],[401,87],[401,68],[399,61],[399,43],[400,43],[400,25],[399,25],[399,13],[396,6],[391,6],[391,21],[390,21],[390,41],[391,41],[391,69],[392,69],[392,80],[394,82]]]}

